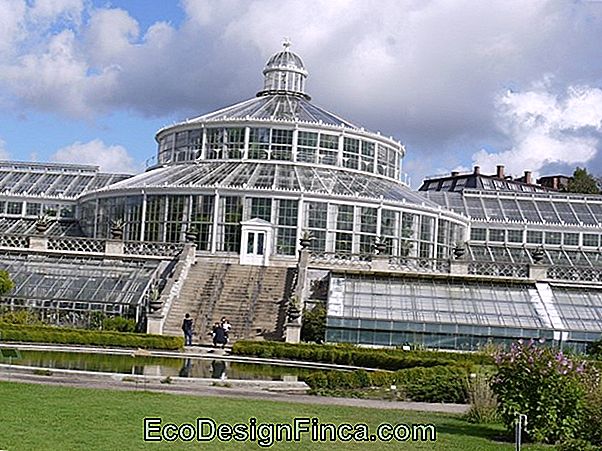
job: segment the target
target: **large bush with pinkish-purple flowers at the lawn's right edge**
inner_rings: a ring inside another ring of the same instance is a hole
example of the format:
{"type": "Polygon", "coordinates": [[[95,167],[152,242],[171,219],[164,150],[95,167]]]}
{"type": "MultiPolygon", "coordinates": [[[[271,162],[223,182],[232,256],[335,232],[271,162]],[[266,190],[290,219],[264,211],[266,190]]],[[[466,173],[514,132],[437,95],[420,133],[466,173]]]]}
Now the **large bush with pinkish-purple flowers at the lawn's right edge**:
{"type": "Polygon", "coordinates": [[[575,438],[584,407],[583,364],[562,351],[536,346],[533,340],[514,343],[496,356],[493,391],[509,431],[518,414],[527,415],[528,435],[538,442],[575,438]]]}

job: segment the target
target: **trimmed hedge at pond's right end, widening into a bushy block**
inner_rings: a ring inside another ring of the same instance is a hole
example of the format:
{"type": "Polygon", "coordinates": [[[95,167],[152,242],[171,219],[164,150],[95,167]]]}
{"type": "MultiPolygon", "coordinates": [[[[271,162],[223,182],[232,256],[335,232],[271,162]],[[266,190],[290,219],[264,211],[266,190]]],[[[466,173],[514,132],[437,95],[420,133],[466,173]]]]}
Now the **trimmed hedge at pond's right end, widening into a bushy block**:
{"type": "Polygon", "coordinates": [[[315,372],[304,378],[312,390],[329,393],[330,390],[357,390],[367,387],[396,385],[405,398],[418,402],[447,402],[464,404],[468,399],[468,373],[456,366],[409,368],[395,372],[364,370],[353,372],[315,372]]]}

